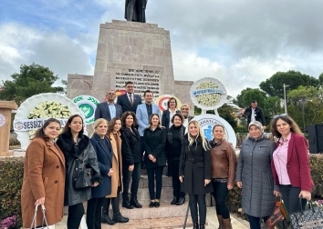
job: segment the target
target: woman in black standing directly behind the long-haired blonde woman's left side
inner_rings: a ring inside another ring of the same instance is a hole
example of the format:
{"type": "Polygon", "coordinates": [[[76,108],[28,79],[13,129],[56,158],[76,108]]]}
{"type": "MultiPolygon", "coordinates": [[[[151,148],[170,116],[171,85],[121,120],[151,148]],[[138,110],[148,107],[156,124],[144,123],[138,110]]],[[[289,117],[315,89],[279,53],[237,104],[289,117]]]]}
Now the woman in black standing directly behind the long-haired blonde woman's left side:
{"type": "Polygon", "coordinates": [[[174,196],[171,204],[176,205],[185,203],[185,193],[181,192],[181,181],[178,178],[182,143],[185,134],[183,122],[184,117],[181,114],[173,115],[172,126],[166,136],[167,175],[172,176],[172,194],[174,196]]]}

